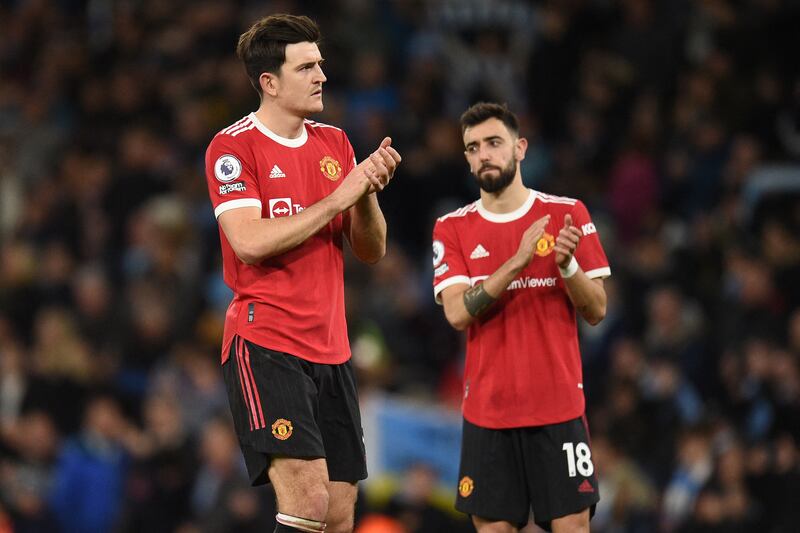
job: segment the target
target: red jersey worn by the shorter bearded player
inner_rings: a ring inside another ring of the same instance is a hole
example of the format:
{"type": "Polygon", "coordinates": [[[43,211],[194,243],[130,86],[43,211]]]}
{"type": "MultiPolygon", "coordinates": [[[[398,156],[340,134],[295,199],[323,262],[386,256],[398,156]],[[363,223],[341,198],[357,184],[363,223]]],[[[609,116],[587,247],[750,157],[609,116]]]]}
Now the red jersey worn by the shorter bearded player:
{"type": "Polygon", "coordinates": [[[540,426],[584,412],[576,312],[555,263],[564,215],[583,232],[575,258],[590,278],[611,275],[586,207],[579,200],[531,191],[511,213],[480,200],[440,217],[433,229],[433,291],[475,285],[519,248],[531,224],[550,214],[530,264],[467,331],[464,418],[487,428],[540,426]]]}

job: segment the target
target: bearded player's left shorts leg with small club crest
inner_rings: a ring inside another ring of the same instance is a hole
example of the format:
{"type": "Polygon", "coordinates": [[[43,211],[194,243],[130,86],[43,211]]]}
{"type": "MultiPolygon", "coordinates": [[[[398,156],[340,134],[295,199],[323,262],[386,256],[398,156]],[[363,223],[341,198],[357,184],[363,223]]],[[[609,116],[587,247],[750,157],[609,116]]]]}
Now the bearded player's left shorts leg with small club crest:
{"type": "Polygon", "coordinates": [[[456,509],[486,522],[515,527],[528,522],[530,499],[519,440],[519,429],[488,429],[464,420],[456,509]]]}

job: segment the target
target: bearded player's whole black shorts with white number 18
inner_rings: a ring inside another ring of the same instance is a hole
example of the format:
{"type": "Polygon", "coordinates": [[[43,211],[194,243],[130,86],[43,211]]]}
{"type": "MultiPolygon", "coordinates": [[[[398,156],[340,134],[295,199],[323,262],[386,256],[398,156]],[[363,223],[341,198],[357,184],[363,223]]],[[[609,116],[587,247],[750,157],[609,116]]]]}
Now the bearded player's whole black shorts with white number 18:
{"type": "Polygon", "coordinates": [[[456,509],[517,527],[550,521],[600,499],[583,417],[547,426],[487,429],[464,420],[456,509]]]}

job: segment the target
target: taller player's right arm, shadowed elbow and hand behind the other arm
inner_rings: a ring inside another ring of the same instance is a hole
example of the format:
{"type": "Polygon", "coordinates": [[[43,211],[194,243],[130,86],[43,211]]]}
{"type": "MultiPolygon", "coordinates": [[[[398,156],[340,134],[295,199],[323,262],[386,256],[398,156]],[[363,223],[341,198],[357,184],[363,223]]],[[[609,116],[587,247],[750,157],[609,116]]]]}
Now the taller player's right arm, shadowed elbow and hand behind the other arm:
{"type": "MultiPolygon", "coordinates": [[[[368,161],[376,172],[370,173],[370,193],[382,191],[400,164],[400,154],[386,137],[368,161]]],[[[376,263],[386,254],[386,219],[375,194],[362,196],[350,208],[350,227],[347,238],[355,256],[365,263],[376,263]]]]}

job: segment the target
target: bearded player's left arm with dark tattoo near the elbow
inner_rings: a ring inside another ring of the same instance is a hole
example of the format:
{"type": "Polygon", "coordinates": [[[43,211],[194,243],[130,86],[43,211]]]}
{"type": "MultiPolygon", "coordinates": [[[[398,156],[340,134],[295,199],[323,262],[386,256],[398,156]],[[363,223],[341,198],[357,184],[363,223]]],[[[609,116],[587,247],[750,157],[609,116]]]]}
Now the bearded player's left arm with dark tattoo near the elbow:
{"type": "Polygon", "coordinates": [[[483,283],[474,287],[457,284],[442,291],[444,315],[451,326],[459,331],[465,330],[494,305],[514,278],[533,259],[536,242],[541,238],[549,221],[550,215],[545,215],[531,224],[522,234],[517,252],[483,283]]]}

